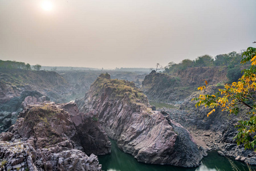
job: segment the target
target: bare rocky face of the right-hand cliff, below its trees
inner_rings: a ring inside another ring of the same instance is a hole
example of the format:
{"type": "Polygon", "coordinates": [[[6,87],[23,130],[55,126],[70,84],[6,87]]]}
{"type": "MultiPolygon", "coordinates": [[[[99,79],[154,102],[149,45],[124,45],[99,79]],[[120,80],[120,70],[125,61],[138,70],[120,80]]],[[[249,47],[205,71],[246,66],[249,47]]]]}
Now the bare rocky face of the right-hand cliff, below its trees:
{"type": "Polygon", "coordinates": [[[204,80],[209,84],[226,82],[226,68],[188,68],[173,75],[152,71],[145,76],[141,89],[152,101],[181,104],[197,87],[204,85],[204,80]]]}

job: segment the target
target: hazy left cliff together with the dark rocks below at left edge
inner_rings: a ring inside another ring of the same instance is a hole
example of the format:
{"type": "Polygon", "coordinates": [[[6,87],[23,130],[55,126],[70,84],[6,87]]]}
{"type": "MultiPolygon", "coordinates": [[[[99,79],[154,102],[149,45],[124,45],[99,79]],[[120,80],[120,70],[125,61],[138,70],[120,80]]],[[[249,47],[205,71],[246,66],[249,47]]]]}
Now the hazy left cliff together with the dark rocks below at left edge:
{"type": "Polygon", "coordinates": [[[15,123],[25,97],[44,95],[44,100],[63,102],[69,93],[69,84],[56,72],[0,70],[0,133],[10,127],[10,119],[15,123]],[[6,117],[8,120],[3,121],[6,117]]]}

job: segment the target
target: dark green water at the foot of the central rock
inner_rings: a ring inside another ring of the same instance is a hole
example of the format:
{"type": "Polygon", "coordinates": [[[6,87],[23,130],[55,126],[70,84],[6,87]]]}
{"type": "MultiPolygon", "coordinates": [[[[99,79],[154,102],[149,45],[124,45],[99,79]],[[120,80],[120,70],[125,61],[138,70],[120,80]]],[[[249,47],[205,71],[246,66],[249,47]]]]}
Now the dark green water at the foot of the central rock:
{"type": "MultiPolygon", "coordinates": [[[[207,157],[201,162],[198,168],[180,168],[170,165],[151,165],[137,162],[131,155],[122,152],[115,141],[112,143],[112,153],[99,156],[102,169],[105,171],[216,171],[216,170],[233,170],[229,160],[226,157],[219,156],[217,152],[209,152],[207,157]]],[[[238,167],[237,170],[249,170],[247,166],[241,162],[233,161],[238,167]]]]}

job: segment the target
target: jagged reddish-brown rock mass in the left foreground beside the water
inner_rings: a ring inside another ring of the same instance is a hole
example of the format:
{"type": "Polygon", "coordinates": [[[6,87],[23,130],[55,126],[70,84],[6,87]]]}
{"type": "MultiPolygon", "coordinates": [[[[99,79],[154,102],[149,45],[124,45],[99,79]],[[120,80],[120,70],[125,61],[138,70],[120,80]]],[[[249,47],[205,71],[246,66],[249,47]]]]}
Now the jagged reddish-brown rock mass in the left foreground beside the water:
{"type": "Polygon", "coordinates": [[[10,170],[18,166],[30,170],[101,170],[95,154],[111,152],[111,143],[99,122],[80,113],[75,103],[27,104],[0,140],[5,141],[0,153],[10,170]],[[21,149],[18,154],[14,153],[17,149],[21,149]]]}

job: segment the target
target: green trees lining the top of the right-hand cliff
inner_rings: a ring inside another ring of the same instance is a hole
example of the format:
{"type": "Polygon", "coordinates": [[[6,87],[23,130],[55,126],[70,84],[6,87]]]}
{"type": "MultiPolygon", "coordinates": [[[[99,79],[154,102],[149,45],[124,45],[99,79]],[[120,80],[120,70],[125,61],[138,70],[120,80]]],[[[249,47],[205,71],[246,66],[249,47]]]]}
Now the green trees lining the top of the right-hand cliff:
{"type": "Polygon", "coordinates": [[[235,82],[241,77],[240,62],[242,59],[242,52],[235,51],[229,54],[217,55],[214,58],[210,55],[198,56],[195,60],[184,59],[180,63],[170,62],[164,68],[166,74],[174,74],[177,71],[186,70],[193,67],[213,67],[213,66],[227,66],[227,78],[229,82],[235,82]]]}

